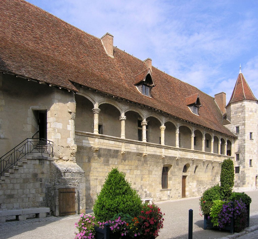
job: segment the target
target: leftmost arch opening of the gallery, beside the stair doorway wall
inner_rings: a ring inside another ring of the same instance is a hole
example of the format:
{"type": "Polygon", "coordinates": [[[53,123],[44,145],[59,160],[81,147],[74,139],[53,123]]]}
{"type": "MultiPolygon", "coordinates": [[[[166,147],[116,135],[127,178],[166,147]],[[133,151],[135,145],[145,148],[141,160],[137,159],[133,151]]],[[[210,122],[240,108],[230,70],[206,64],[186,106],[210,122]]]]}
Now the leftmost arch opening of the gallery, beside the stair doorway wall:
{"type": "Polygon", "coordinates": [[[75,95],[76,114],[74,119],[75,130],[93,133],[94,114],[92,109],[95,102],[84,95],[75,95]]]}

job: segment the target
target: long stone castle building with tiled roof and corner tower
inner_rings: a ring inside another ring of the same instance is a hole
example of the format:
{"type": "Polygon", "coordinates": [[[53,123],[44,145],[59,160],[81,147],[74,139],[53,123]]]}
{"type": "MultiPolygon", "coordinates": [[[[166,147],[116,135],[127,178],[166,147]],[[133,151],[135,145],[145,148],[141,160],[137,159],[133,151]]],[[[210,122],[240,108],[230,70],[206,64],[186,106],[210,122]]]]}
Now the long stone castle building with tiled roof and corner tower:
{"type": "Polygon", "coordinates": [[[115,167],[143,201],[199,196],[225,158],[235,190],[256,188],[258,102],[241,72],[226,106],[109,33],[23,0],[0,7],[0,210],[84,212],[115,167]]]}

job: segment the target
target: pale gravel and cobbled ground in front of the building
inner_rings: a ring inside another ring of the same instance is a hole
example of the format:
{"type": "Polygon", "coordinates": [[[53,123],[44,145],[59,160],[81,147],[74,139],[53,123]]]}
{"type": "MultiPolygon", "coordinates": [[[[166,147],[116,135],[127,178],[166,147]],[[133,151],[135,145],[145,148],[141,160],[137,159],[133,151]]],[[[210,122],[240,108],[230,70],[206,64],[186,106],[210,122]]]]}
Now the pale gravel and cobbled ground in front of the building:
{"type": "MultiPolygon", "coordinates": [[[[257,239],[258,238],[258,190],[246,192],[252,198],[250,205],[250,227],[230,235],[229,231],[203,230],[203,217],[199,215],[199,198],[158,202],[165,212],[164,228],[157,239],[188,239],[188,210],[193,209],[193,239],[257,239]]],[[[92,210],[87,211],[92,212],[92,210]]],[[[77,229],[74,223],[79,215],[46,218],[28,218],[25,221],[0,223],[0,238],[19,239],[72,239],[77,229]]]]}

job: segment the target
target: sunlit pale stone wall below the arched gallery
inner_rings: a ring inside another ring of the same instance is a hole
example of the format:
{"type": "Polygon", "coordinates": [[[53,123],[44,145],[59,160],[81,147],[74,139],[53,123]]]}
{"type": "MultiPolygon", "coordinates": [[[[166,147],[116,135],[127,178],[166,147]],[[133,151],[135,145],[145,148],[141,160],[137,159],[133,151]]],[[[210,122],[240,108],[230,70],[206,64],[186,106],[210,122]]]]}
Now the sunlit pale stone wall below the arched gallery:
{"type": "Polygon", "coordinates": [[[126,174],[126,179],[142,199],[152,198],[155,202],[181,198],[183,175],[186,176],[186,197],[200,196],[205,189],[219,183],[220,162],[227,158],[225,155],[77,131],[75,136],[76,162],[85,171],[86,208],[92,208],[96,194],[112,168],[126,174]],[[98,150],[95,150],[96,143],[98,150]],[[186,164],[188,169],[183,173],[186,164]],[[169,167],[167,189],[162,189],[161,185],[163,166],[169,167]]]}

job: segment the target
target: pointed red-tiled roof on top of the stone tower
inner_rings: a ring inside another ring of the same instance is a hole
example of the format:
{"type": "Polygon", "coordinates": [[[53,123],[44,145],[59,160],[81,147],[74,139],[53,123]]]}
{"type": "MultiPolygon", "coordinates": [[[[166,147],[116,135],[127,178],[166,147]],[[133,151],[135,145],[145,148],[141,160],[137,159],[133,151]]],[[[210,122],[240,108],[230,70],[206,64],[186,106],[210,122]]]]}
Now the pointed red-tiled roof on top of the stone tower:
{"type": "MultiPolygon", "coordinates": [[[[257,101],[257,99],[254,97],[254,94],[250,87],[248,86],[245,77],[240,72],[237,77],[237,82],[234,87],[233,93],[231,95],[231,98],[228,102],[228,105],[234,102],[242,101],[242,100],[253,100],[257,101]]],[[[227,106],[228,106],[227,105],[227,106]]]]}

